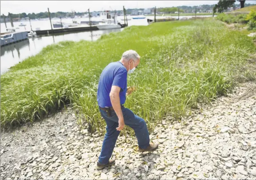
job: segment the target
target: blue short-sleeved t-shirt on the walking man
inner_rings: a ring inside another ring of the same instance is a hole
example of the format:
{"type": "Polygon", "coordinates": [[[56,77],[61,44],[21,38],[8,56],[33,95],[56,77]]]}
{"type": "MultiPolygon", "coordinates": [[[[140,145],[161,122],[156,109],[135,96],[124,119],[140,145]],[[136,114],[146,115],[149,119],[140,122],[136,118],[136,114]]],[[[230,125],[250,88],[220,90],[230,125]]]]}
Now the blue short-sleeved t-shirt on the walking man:
{"type": "Polygon", "coordinates": [[[121,88],[119,93],[120,104],[124,104],[127,89],[127,69],[119,61],[108,64],[100,75],[97,101],[101,108],[112,107],[109,93],[113,85],[121,88]]]}

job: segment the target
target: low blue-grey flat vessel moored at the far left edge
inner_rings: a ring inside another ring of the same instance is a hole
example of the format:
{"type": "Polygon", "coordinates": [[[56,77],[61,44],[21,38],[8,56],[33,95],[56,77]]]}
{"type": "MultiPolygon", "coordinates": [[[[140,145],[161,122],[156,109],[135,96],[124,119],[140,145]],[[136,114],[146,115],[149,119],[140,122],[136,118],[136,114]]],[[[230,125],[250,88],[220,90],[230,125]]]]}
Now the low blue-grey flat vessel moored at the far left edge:
{"type": "Polygon", "coordinates": [[[0,46],[5,46],[8,44],[16,43],[22,40],[28,39],[28,32],[10,32],[1,35],[0,46]]]}

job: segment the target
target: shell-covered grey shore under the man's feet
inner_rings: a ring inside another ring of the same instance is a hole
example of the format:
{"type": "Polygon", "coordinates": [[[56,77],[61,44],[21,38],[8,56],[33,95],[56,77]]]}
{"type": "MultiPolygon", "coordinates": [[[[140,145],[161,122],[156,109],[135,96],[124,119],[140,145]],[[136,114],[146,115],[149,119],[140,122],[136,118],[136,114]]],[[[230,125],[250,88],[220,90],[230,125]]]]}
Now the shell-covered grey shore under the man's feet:
{"type": "Polygon", "coordinates": [[[136,140],[120,136],[116,164],[100,171],[95,166],[104,137],[80,131],[71,110],[1,133],[1,179],[256,180],[256,95],[232,102],[247,86],[255,84],[182,122],[165,119],[150,135],[160,143],[155,153],[139,153],[136,140]]]}

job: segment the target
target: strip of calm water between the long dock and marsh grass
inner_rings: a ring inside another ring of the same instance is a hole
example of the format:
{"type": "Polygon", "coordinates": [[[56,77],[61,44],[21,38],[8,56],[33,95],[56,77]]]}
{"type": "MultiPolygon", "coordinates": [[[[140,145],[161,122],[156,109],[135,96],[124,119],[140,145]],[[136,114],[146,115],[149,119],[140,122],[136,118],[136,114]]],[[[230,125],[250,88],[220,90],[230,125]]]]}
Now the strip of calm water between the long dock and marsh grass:
{"type": "Polygon", "coordinates": [[[30,38],[28,40],[20,41],[15,44],[10,44],[8,46],[1,47],[1,60],[0,60],[0,70],[1,74],[6,72],[8,68],[14,66],[20,61],[28,58],[29,56],[34,56],[42,50],[42,48],[47,45],[58,43],[64,40],[80,41],[88,40],[95,41],[100,38],[102,34],[110,32],[120,32],[123,29],[108,29],[108,30],[98,30],[91,32],[76,32],[76,33],[65,33],[56,34],[51,36],[40,36],[36,38],[30,38]]]}

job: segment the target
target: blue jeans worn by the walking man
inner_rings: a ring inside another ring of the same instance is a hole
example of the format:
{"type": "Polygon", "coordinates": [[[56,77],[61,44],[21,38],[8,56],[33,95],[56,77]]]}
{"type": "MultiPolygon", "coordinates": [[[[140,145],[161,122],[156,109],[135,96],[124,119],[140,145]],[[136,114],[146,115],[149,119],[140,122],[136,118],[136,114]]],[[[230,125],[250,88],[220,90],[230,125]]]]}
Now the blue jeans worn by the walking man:
{"type": "MultiPolygon", "coordinates": [[[[147,124],[144,119],[136,116],[130,109],[124,108],[122,106],[122,112],[124,116],[124,124],[130,126],[137,137],[138,145],[140,148],[147,148],[149,146],[149,134],[147,124]]],[[[116,145],[117,137],[120,131],[117,131],[118,127],[118,117],[115,111],[110,111],[110,117],[108,117],[107,112],[100,109],[100,114],[104,118],[107,124],[107,132],[105,134],[99,162],[101,164],[107,164],[108,160],[111,158],[113,150],[116,145]]]]}

